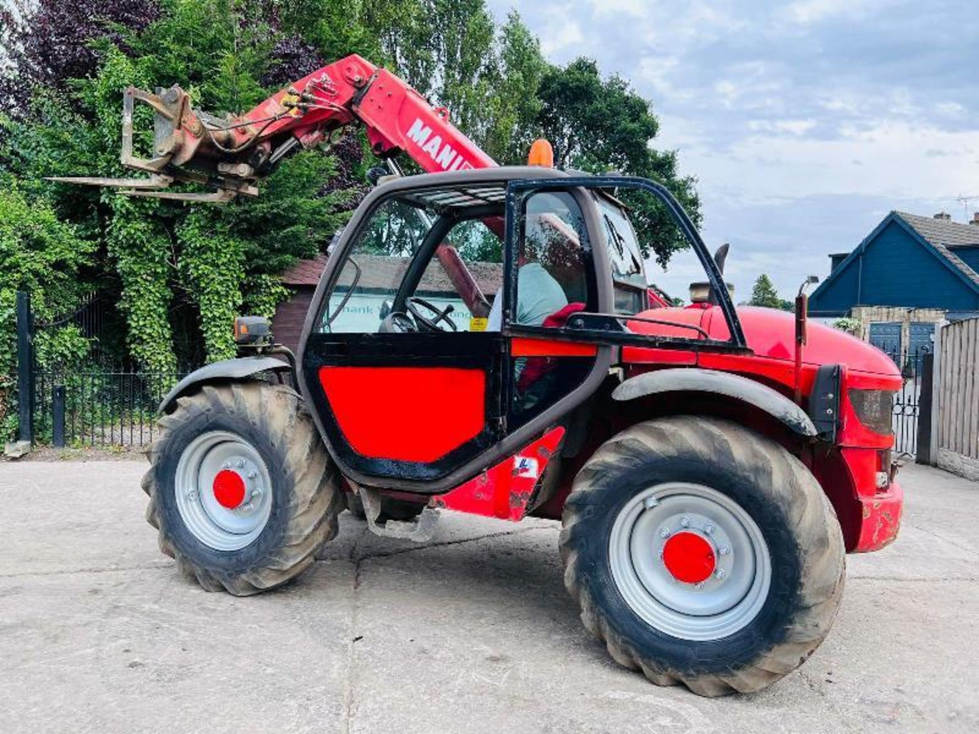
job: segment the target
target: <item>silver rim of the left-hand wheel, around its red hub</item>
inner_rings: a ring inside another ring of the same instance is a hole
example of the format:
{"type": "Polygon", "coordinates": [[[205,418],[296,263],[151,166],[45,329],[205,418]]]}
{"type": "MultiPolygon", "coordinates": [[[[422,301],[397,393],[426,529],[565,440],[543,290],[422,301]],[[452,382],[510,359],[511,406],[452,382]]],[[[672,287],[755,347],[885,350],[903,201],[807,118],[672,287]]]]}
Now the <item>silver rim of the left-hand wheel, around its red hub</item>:
{"type": "Polygon", "coordinates": [[[241,436],[213,431],[198,436],[177,462],[173,489],[177,510],[188,530],[214,550],[235,551],[251,544],[268,523],[272,482],[255,446],[241,436]],[[227,507],[215,496],[220,472],[233,472],[244,484],[240,504],[227,507]]]}

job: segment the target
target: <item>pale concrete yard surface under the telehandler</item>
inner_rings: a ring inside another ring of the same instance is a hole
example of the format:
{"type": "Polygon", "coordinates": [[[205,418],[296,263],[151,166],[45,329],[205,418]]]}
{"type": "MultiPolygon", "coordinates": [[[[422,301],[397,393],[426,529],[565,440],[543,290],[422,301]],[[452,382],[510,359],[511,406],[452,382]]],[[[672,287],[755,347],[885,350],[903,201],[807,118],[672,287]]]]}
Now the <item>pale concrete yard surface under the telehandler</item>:
{"type": "Polygon", "coordinates": [[[623,669],[564,589],[559,524],[443,513],[427,545],[349,513],[297,581],[177,573],[136,462],[0,463],[0,732],[979,731],[979,484],[906,467],[901,536],[848,557],[833,630],[764,692],[623,669]]]}

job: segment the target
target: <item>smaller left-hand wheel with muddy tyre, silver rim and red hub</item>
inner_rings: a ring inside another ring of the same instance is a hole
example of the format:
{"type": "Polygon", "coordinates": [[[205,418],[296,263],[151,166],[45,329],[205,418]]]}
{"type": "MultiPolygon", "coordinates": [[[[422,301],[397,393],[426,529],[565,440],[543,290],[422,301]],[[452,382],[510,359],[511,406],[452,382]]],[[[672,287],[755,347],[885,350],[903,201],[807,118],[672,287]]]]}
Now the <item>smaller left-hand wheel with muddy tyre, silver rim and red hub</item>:
{"type": "Polygon", "coordinates": [[[146,519],[180,571],[236,596],[285,583],[337,534],[337,471],[303,398],[263,382],[205,386],[163,416],[146,519]]]}

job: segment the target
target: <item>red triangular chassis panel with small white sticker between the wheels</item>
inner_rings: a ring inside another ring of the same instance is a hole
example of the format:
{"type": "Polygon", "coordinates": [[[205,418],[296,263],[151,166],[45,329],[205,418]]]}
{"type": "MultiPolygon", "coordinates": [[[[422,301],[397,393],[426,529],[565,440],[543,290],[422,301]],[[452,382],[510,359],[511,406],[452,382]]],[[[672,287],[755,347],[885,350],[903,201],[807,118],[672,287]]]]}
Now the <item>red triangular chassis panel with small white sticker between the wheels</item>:
{"type": "Polygon", "coordinates": [[[516,456],[504,459],[479,477],[433,497],[430,507],[457,510],[516,523],[523,520],[534,486],[564,436],[554,428],[516,456]]]}

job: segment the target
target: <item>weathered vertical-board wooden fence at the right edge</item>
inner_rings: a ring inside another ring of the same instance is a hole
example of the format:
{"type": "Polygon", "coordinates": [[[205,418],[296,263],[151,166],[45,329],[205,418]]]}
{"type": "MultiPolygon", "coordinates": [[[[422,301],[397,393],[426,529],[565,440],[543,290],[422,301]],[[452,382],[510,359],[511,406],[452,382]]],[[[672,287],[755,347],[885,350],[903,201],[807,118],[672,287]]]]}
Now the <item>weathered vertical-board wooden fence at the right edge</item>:
{"type": "Polygon", "coordinates": [[[942,328],[935,372],[938,465],[979,480],[979,318],[942,328]]]}

